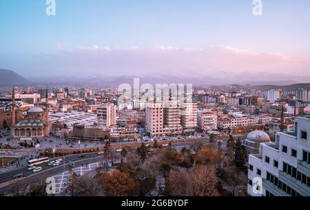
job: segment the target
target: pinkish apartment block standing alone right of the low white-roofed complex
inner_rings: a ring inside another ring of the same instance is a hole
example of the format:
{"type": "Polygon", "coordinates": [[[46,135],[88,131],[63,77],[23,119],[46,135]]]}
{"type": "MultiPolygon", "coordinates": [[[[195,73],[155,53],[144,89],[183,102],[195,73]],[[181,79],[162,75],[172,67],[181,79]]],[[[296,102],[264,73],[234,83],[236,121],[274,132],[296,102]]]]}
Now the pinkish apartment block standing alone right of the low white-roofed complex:
{"type": "Polygon", "coordinates": [[[116,108],[113,103],[102,104],[97,108],[97,121],[107,128],[116,125],[116,108]]]}

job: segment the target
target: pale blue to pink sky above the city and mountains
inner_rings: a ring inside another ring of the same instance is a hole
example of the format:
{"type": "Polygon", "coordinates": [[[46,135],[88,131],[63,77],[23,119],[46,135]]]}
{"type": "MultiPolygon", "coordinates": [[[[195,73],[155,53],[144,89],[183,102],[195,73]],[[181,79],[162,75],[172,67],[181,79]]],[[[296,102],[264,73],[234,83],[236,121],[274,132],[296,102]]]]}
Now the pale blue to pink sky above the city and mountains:
{"type": "MultiPolygon", "coordinates": [[[[0,69],[52,75],[310,75],[310,1],[0,0],[0,69]]],[[[1,76],[1,75],[0,75],[1,76]]]]}

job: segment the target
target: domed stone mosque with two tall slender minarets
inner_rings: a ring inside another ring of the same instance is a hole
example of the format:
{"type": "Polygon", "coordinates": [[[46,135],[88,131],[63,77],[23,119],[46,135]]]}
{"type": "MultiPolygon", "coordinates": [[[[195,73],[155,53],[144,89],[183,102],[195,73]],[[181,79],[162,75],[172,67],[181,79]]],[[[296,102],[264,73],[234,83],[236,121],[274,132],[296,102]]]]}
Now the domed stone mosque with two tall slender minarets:
{"type": "MultiPolygon", "coordinates": [[[[48,91],[46,91],[48,98],[48,91]]],[[[50,136],[51,124],[48,120],[48,100],[45,100],[45,111],[34,106],[27,111],[25,119],[15,122],[15,96],[12,93],[12,126],[11,137],[13,139],[43,139],[50,136]]]]}

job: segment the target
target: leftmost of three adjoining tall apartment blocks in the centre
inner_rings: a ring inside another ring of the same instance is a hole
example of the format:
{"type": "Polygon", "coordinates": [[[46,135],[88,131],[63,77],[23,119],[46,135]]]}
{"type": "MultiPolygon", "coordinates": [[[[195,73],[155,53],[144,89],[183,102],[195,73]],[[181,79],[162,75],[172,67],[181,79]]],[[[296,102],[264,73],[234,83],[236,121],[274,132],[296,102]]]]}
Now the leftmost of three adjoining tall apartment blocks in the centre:
{"type": "Polygon", "coordinates": [[[145,108],[145,128],[151,137],[163,137],[163,102],[147,103],[145,108]]]}

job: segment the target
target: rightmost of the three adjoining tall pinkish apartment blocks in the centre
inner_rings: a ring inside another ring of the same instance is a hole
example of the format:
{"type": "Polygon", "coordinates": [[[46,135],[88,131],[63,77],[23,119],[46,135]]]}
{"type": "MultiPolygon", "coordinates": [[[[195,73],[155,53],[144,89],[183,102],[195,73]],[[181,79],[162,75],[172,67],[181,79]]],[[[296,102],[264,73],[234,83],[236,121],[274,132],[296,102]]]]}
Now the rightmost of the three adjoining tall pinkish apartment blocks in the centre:
{"type": "Polygon", "coordinates": [[[194,133],[197,128],[197,102],[185,101],[181,103],[181,125],[183,133],[194,133]]]}

